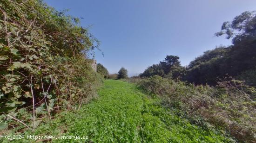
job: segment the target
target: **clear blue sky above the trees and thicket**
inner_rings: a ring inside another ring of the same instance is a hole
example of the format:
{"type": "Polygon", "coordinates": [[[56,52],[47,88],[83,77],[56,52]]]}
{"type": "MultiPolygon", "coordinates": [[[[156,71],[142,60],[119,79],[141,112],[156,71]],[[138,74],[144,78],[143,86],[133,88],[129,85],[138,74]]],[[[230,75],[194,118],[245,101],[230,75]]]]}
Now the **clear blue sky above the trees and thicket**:
{"type": "Polygon", "coordinates": [[[44,0],[83,17],[82,26],[101,41],[96,60],[117,73],[136,75],[166,55],[188,65],[196,56],[230,40],[214,37],[224,21],[256,10],[256,0],[44,0]]]}

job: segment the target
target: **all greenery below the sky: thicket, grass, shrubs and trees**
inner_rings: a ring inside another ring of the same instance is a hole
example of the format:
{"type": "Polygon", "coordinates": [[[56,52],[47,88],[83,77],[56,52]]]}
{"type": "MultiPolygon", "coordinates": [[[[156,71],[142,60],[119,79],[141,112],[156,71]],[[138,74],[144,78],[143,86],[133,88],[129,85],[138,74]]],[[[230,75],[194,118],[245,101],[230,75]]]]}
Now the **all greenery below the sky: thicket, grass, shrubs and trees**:
{"type": "Polygon", "coordinates": [[[78,18],[41,0],[1,0],[0,13],[2,133],[88,136],[83,142],[256,141],[256,12],[216,33],[233,45],[186,67],[167,55],[132,78],[124,67],[110,75],[100,63],[92,69],[88,57],[99,42],[78,18]],[[103,77],[122,81],[105,80],[97,93],[103,77]]]}

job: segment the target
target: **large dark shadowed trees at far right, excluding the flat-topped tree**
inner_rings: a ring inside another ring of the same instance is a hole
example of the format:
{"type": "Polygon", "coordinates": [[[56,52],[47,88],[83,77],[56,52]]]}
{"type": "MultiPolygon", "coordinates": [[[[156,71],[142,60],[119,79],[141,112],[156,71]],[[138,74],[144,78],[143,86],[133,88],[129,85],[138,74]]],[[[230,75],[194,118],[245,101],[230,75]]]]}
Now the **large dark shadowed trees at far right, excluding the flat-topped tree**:
{"type": "MultiPolygon", "coordinates": [[[[233,45],[207,51],[190,62],[185,80],[195,84],[216,85],[217,78],[237,77],[256,68],[256,12],[243,12],[232,22],[224,22],[216,36],[227,35],[233,45]]],[[[248,73],[249,74],[249,73],[248,73]]],[[[251,75],[251,74],[250,74],[251,75]]],[[[241,79],[240,80],[244,80],[241,79]]],[[[248,80],[248,78],[246,78],[248,80]]],[[[248,83],[248,82],[246,82],[248,83]]],[[[250,82],[256,86],[255,82],[250,82]]]]}

